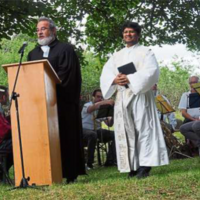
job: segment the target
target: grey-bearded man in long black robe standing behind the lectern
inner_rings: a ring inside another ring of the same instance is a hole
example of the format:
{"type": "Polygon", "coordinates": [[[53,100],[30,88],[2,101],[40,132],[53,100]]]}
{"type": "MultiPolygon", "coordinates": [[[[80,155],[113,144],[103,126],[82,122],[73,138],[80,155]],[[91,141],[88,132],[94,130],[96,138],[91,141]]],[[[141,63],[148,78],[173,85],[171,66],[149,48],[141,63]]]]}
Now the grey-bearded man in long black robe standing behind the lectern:
{"type": "Polygon", "coordinates": [[[48,59],[62,83],[57,85],[58,121],[63,177],[67,183],[85,174],[82,126],[79,109],[81,72],[71,45],[56,38],[51,19],[41,17],[37,24],[39,46],[28,54],[28,61],[48,59]]]}

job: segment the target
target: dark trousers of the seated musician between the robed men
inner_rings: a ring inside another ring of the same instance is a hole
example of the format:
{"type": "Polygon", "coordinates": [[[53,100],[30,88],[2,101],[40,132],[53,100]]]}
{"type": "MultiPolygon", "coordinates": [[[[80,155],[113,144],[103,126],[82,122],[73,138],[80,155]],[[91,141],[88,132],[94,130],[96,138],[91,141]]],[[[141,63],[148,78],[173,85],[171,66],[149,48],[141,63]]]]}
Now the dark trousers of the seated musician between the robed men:
{"type": "Polygon", "coordinates": [[[110,142],[108,149],[107,162],[116,162],[116,148],[114,141],[114,131],[109,131],[106,129],[100,129],[97,131],[83,129],[83,141],[88,147],[88,158],[87,163],[92,164],[94,162],[94,153],[97,139],[100,142],[110,142]]]}

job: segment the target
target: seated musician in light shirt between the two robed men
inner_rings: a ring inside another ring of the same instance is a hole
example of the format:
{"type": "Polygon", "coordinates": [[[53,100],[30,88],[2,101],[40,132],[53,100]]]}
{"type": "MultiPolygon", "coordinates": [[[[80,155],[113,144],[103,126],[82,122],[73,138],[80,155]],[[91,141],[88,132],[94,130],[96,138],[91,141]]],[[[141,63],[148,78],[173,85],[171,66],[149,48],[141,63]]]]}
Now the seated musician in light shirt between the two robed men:
{"type": "MultiPolygon", "coordinates": [[[[94,90],[93,101],[84,104],[82,109],[83,141],[88,147],[87,166],[93,168],[96,141],[111,142],[105,166],[116,164],[116,149],[114,131],[101,129],[101,121],[96,118],[97,110],[101,105],[113,105],[113,100],[103,100],[100,89],[94,90]]],[[[104,120],[107,125],[112,125],[112,119],[104,120]]]]}

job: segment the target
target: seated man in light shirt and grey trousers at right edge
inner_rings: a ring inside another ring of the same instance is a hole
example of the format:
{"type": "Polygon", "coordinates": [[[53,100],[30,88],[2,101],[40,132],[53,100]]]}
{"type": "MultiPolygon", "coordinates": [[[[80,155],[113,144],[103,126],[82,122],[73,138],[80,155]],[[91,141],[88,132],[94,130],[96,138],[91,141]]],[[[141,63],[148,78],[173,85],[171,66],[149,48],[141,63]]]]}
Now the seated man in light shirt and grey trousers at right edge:
{"type": "Polygon", "coordinates": [[[189,85],[190,85],[190,91],[185,92],[181,96],[181,100],[179,103],[178,108],[180,109],[182,116],[185,118],[184,124],[180,127],[180,132],[189,139],[192,144],[195,147],[200,148],[200,139],[199,139],[199,117],[193,116],[192,114],[189,114],[187,110],[189,107],[189,94],[191,93],[197,93],[194,88],[192,88],[192,84],[198,83],[199,78],[197,76],[191,76],[189,78],[189,85]]]}

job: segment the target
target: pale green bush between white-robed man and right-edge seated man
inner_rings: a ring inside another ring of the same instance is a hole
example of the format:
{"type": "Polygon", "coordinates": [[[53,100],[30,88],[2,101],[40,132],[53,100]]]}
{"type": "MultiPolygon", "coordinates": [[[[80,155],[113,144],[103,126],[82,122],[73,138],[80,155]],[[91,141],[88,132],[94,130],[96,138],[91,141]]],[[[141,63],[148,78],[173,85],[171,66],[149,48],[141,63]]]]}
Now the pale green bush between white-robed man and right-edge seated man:
{"type": "Polygon", "coordinates": [[[174,61],[171,65],[171,68],[161,67],[158,89],[177,108],[181,95],[189,90],[188,78],[193,72],[193,67],[184,65],[184,61],[174,61]]]}

